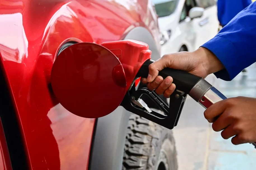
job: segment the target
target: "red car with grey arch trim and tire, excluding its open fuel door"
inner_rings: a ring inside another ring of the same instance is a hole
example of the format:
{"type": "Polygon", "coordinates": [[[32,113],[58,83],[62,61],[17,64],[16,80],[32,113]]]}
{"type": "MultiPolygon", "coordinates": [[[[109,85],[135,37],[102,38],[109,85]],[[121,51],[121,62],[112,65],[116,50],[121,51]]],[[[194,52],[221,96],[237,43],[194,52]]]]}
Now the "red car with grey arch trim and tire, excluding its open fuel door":
{"type": "Polygon", "coordinates": [[[82,118],[51,90],[53,62],[74,43],[139,40],[157,60],[160,38],[151,0],[2,0],[0,168],[177,169],[171,130],[122,107],[82,118]]]}

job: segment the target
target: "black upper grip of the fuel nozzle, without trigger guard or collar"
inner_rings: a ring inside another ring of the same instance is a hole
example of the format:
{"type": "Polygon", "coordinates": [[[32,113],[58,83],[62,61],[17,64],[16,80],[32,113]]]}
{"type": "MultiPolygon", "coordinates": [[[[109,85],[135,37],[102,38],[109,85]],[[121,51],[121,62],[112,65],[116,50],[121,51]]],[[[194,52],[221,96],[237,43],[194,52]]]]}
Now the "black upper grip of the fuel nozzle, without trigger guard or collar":
{"type": "MultiPolygon", "coordinates": [[[[137,73],[137,77],[147,78],[149,74],[149,65],[153,62],[154,60],[145,61],[142,67],[140,67],[140,70],[137,73]]],[[[183,91],[186,94],[189,94],[196,83],[202,79],[202,77],[196,76],[186,71],[170,68],[164,68],[163,70],[159,71],[158,75],[162,76],[163,79],[171,76],[173,78],[173,83],[176,85],[176,89],[183,91]]]]}

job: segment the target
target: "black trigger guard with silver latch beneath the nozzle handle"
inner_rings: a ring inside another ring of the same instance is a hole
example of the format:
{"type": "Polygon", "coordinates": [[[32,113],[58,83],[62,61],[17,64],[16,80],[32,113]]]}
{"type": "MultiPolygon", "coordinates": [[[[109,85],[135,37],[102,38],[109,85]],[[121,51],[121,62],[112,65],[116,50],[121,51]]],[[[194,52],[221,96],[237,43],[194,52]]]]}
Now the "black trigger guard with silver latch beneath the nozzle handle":
{"type": "Polygon", "coordinates": [[[175,90],[170,96],[170,107],[168,107],[154,91],[147,88],[135,90],[133,86],[126,93],[121,106],[134,114],[172,129],[178,123],[186,97],[187,94],[184,92],[175,90]]]}

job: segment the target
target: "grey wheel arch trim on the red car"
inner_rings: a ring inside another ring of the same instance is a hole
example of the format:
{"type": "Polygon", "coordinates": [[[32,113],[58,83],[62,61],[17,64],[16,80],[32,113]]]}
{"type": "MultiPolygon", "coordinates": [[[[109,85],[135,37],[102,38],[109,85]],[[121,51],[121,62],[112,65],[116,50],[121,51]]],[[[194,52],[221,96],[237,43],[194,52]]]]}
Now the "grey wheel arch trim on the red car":
{"type": "MultiPolygon", "coordinates": [[[[135,27],[124,40],[145,42],[152,51],[152,60],[159,59],[160,53],[151,33],[144,27],[135,27]]],[[[119,106],[107,116],[97,119],[91,145],[89,170],[121,170],[130,112],[119,106]]]]}

